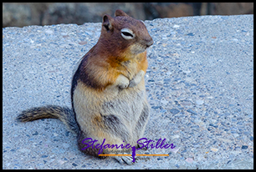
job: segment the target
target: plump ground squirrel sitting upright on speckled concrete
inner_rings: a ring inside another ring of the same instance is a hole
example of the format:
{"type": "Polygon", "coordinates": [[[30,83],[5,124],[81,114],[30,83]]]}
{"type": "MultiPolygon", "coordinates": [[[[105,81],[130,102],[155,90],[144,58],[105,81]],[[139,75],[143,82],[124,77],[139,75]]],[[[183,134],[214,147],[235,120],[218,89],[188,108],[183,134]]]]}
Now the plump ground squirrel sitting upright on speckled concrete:
{"type": "MultiPolygon", "coordinates": [[[[83,140],[136,146],[149,119],[144,75],[146,48],[153,44],[146,26],[121,10],[105,14],[98,42],[81,58],[71,87],[72,109],[48,105],[24,110],[21,122],[60,119],[77,135],[79,150],[98,156],[99,149],[84,149],[83,140]]],[[[101,154],[111,154],[104,149],[101,154]]],[[[129,156],[115,156],[132,164],[129,156]]]]}

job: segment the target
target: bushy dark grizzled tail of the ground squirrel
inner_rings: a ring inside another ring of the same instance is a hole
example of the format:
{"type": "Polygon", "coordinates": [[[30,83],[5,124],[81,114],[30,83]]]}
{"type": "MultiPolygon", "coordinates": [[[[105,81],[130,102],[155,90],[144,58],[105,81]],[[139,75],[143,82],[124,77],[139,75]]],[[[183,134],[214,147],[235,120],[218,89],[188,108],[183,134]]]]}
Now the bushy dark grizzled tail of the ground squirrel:
{"type": "Polygon", "coordinates": [[[74,112],[68,107],[60,107],[55,105],[48,105],[44,107],[32,108],[24,110],[17,117],[20,122],[28,122],[37,119],[59,119],[68,129],[74,134],[79,134],[79,126],[74,119],[74,112]]]}

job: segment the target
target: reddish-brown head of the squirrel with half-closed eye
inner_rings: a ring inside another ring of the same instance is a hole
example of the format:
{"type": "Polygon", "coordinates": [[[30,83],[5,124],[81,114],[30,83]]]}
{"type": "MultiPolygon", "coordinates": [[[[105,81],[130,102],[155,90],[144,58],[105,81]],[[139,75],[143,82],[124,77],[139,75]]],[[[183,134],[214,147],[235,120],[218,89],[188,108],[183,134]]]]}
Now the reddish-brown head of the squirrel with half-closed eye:
{"type": "Polygon", "coordinates": [[[142,21],[116,10],[115,18],[104,15],[99,42],[110,52],[138,54],[150,47],[153,39],[142,21]]]}

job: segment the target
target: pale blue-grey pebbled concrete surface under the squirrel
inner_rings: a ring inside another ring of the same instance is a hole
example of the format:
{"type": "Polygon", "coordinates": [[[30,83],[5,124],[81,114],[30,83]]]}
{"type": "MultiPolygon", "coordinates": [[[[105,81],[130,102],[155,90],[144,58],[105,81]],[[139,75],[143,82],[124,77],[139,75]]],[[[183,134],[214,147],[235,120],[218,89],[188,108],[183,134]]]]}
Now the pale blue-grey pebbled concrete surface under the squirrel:
{"type": "Polygon", "coordinates": [[[79,58],[95,45],[100,23],[3,28],[3,169],[253,169],[253,15],[146,21],[147,149],[133,165],[77,149],[57,119],[15,118],[46,104],[71,106],[79,58]]]}

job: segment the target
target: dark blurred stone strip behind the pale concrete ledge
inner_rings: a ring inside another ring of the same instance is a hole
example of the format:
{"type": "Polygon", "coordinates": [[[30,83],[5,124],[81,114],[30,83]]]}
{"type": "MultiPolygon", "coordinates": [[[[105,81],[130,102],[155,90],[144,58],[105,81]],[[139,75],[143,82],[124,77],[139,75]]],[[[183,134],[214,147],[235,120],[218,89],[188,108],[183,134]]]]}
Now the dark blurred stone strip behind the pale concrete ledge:
{"type": "Polygon", "coordinates": [[[253,3],[3,3],[3,28],[59,23],[100,23],[122,9],[133,18],[253,14],[253,3]]]}

